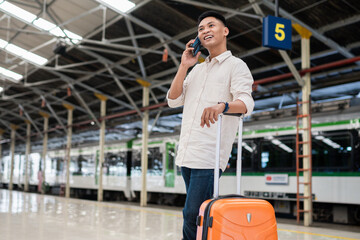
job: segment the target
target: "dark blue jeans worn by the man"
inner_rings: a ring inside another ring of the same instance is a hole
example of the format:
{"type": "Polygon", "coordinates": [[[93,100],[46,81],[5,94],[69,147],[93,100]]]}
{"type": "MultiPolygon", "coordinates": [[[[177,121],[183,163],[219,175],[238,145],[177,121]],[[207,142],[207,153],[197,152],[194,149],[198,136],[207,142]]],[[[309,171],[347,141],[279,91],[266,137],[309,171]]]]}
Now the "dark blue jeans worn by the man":
{"type": "MultiPolygon", "coordinates": [[[[220,176],[222,171],[220,170],[220,176]]],[[[185,181],[186,201],[183,209],[184,240],[196,239],[196,217],[199,215],[201,204],[213,197],[214,169],[192,169],[181,167],[181,174],[185,181]]]]}

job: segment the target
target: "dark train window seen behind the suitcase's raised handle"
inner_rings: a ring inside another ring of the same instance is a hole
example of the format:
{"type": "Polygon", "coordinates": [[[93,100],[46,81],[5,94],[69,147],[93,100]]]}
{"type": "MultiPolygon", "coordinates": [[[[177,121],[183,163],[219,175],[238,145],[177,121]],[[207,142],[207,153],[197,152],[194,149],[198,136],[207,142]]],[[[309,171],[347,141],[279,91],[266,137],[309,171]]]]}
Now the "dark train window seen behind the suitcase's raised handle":
{"type": "MultiPolygon", "coordinates": [[[[252,141],[243,141],[242,143],[242,154],[241,154],[241,161],[242,161],[242,170],[250,170],[252,168],[252,162],[254,158],[254,152],[256,149],[256,144],[252,141]]],[[[226,167],[226,173],[236,172],[236,162],[237,162],[237,154],[238,154],[238,147],[237,143],[233,144],[229,162],[226,167]]]]}

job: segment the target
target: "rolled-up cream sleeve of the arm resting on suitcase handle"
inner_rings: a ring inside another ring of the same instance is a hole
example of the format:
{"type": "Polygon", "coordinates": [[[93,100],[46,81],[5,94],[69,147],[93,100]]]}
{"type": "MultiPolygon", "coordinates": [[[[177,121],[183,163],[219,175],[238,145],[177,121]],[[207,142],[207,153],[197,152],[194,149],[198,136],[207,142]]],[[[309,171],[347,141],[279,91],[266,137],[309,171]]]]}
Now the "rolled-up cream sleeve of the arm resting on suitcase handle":
{"type": "Polygon", "coordinates": [[[239,59],[233,66],[231,75],[230,92],[233,95],[233,101],[241,100],[246,106],[245,116],[249,116],[254,110],[254,99],[251,96],[254,79],[245,62],[239,59]]]}

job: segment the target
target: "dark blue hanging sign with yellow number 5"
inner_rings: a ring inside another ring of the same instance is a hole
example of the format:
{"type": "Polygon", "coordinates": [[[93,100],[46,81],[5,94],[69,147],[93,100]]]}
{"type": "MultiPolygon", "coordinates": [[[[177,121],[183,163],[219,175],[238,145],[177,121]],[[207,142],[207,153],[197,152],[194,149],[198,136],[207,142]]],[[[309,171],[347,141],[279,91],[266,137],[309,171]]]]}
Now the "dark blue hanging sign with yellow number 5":
{"type": "Polygon", "coordinates": [[[285,18],[267,16],[263,19],[263,46],[290,50],[291,21],[285,18]]]}

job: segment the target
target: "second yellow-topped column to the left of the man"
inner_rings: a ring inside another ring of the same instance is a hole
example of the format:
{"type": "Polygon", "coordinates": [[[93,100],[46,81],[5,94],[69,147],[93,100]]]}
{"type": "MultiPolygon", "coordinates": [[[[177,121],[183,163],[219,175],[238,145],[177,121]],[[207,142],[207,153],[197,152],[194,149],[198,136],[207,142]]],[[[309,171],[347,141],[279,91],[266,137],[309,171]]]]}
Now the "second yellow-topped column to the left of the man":
{"type": "MultiPolygon", "coordinates": [[[[106,116],[106,100],[107,97],[104,95],[95,93],[95,96],[101,100],[101,110],[100,115],[101,118],[106,116]]],[[[98,201],[101,202],[103,200],[103,165],[104,165],[104,145],[105,145],[105,119],[101,119],[100,124],[100,160],[99,160],[99,188],[98,188],[98,201]]]]}

